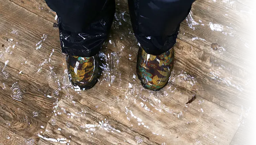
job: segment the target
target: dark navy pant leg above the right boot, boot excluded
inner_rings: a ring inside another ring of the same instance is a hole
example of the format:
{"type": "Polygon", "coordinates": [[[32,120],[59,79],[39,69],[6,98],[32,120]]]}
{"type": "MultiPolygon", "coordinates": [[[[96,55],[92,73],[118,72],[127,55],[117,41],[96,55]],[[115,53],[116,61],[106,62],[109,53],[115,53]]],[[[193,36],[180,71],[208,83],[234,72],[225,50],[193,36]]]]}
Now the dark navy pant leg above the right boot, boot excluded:
{"type": "Polygon", "coordinates": [[[159,55],[175,45],[194,1],[128,0],[135,37],[148,54],[159,55]]]}

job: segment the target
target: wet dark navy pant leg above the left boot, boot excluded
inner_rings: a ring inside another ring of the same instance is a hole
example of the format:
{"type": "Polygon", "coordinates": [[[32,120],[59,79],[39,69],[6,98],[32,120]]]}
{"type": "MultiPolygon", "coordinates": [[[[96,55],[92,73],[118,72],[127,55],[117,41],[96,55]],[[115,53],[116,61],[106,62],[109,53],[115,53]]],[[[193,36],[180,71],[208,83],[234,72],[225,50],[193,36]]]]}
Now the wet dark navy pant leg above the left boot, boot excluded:
{"type": "Polygon", "coordinates": [[[97,54],[108,37],[115,0],[45,0],[58,15],[63,53],[81,57],[97,54]]]}

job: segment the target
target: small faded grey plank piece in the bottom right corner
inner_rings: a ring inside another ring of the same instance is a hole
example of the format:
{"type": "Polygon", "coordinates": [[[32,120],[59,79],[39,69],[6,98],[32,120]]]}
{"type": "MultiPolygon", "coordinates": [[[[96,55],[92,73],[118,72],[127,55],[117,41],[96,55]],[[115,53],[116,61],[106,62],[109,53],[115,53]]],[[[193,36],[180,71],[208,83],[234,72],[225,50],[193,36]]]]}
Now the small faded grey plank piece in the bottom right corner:
{"type": "Polygon", "coordinates": [[[243,119],[230,145],[255,145],[256,136],[254,132],[256,132],[255,122],[243,119]]]}

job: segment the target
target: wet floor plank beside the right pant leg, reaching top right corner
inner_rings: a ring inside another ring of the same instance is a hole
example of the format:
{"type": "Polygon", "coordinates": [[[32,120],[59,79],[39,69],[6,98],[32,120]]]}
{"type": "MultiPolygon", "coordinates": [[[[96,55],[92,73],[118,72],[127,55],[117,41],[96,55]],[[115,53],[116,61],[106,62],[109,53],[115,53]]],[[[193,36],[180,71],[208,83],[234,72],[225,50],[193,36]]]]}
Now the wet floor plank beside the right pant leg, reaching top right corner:
{"type": "Polygon", "coordinates": [[[184,35],[179,38],[256,76],[256,17],[250,15],[251,9],[250,5],[238,1],[197,0],[188,22],[181,25],[180,33],[184,35]],[[213,52],[212,43],[220,44],[226,51],[213,52]]]}

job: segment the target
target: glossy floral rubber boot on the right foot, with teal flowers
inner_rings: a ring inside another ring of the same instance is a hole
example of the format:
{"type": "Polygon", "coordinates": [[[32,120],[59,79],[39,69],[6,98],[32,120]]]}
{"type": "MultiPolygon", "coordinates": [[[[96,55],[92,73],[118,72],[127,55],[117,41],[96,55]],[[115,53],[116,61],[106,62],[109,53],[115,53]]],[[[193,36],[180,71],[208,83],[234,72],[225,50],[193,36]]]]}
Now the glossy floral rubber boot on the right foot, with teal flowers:
{"type": "Polygon", "coordinates": [[[148,54],[144,49],[140,48],[136,71],[143,87],[153,91],[164,88],[171,76],[173,59],[173,48],[160,55],[148,54]]]}

